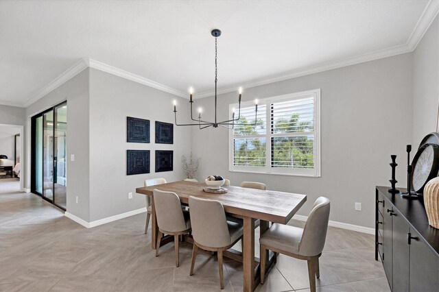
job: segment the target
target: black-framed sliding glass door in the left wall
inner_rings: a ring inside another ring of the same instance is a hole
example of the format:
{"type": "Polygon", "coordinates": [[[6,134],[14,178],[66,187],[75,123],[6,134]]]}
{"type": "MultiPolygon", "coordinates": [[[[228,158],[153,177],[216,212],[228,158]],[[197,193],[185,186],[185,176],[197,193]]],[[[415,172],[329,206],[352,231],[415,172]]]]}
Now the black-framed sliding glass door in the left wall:
{"type": "Polygon", "coordinates": [[[67,102],[32,117],[32,193],[66,210],[67,102]]]}

